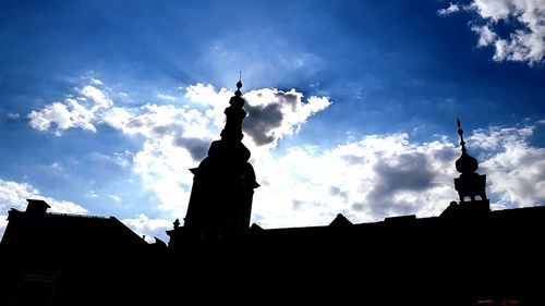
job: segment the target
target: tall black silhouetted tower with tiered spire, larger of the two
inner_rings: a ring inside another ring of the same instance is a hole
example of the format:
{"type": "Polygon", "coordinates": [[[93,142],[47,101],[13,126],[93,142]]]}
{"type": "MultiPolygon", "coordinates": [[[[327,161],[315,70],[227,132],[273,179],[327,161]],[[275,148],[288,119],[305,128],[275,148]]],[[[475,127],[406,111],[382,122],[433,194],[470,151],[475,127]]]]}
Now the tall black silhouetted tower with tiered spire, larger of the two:
{"type": "Polygon", "coordinates": [[[221,139],[211,143],[208,156],[195,175],[185,216],[184,232],[190,241],[209,242],[232,237],[250,227],[252,197],[259,185],[250,159],[250,150],[242,144],[242,121],[246,112],[239,78],[237,91],[226,108],[226,126],[221,139]]]}

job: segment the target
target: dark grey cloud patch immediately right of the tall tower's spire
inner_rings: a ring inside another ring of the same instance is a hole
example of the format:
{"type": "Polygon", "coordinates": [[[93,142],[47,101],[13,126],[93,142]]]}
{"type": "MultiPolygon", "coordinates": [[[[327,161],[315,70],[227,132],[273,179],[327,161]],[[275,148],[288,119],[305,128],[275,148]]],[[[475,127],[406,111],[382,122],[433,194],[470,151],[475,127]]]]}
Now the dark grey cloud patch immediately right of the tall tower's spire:
{"type": "Polygon", "coordinates": [[[282,124],[281,105],[270,103],[268,106],[253,107],[246,103],[244,109],[247,111],[247,118],[243,124],[244,132],[258,146],[272,143],[275,137],[269,133],[282,124]]]}

